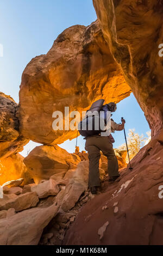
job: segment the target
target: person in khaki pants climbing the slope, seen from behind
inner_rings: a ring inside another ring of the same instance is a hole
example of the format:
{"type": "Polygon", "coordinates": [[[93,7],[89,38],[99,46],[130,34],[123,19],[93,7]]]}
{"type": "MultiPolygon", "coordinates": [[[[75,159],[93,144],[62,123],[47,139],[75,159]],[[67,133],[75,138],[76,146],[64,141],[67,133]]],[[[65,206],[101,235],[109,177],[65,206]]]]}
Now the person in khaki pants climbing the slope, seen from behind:
{"type": "MultiPolygon", "coordinates": [[[[93,111],[104,111],[105,114],[105,123],[106,123],[106,112],[115,112],[117,106],[114,102],[110,102],[109,104],[102,105],[104,100],[98,100],[93,103],[90,110],[93,111]]],[[[124,128],[125,120],[122,119],[122,124],[117,124],[111,119],[111,132],[114,131],[122,131],[124,128]]],[[[84,134],[79,130],[80,134],[84,134]]],[[[83,131],[86,132],[87,131],[83,131]]],[[[95,131],[92,132],[92,134],[95,131]]],[[[89,131],[89,136],[86,136],[85,149],[89,154],[89,188],[92,194],[97,193],[97,188],[100,186],[99,179],[99,159],[101,157],[100,151],[107,157],[108,159],[108,173],[110,177],[110,181],[115,181],[119,176],[118,172],[118,161],[115,156],[114,149],[112,147],[112,143],[114,143],[114,138],[111,136],[101,136],[101,133],[96,131],[97,134],[91,134],[89,131]]]]}

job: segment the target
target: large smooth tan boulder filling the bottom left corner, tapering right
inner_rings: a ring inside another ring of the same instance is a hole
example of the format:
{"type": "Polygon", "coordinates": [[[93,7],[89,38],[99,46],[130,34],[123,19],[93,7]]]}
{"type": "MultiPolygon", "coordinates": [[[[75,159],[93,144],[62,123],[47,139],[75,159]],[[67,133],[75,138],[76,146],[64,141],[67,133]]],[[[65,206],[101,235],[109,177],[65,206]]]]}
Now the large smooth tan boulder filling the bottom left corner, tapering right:
{"type": "Polygon", "coordinates": [[[7,220],[0,220],[1,245],[37,245],[43,229],[58,212],[58,206],[22,211],[7,220]]]}

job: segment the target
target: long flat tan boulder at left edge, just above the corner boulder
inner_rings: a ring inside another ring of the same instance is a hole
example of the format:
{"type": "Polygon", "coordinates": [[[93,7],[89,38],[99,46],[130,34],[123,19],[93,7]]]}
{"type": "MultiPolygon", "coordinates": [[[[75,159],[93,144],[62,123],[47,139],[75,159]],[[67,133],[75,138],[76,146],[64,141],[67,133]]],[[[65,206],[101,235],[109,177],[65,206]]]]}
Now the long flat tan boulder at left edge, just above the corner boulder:
{"type": "Polygon", "coordinates": [[[36,206],[39,202],[36,192],[21,194],[4,194],[3,199],[0,200],[0,210],[8,210],[14,208],[15,211],[22,211],[36,206]]]}

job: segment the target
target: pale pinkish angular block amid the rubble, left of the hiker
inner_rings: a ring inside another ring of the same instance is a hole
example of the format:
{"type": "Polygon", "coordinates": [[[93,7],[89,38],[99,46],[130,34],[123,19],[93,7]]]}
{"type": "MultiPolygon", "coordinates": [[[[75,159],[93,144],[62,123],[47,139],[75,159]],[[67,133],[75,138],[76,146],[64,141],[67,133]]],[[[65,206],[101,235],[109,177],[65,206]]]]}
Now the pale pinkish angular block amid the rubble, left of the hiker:
{"type": "Polygon", "coordinates": [[[39,198],[46,198],[48,196],[56,196],[59,193],[59,187],[53,179],[49,179],[39,185],[31,187],[32,192],[36,192],[39,198]]]}

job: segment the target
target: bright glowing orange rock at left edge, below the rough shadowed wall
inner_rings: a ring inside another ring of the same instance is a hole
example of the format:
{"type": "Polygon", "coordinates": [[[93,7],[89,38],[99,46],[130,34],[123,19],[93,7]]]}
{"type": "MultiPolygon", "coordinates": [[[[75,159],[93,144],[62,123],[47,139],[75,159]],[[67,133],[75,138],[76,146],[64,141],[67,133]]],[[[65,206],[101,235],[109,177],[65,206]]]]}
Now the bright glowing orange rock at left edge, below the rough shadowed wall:
{"type": "Polygon", "coordinates": [[[0,185],[3,185],[9,180],[17,180],[20,178],[24,179],[21,185],[30,182],[31,178],[27,172],[23,159],[24,157],[20,154],[12,154],[9,157],[0,159],[0,185]]]}

